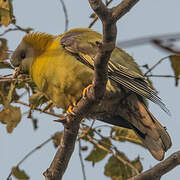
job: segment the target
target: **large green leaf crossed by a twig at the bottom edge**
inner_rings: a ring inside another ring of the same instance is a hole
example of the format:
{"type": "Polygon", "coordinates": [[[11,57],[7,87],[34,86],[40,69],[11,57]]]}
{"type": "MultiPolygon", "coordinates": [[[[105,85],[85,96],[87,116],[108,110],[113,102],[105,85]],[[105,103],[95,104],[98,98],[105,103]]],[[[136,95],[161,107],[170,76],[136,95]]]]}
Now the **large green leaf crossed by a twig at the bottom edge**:
{"type": "Polygon", "coordinates": [[[112,180],[127,180],[128,178],[135,176],[137,173],[128,164],[136,168],[139,173],[142,171],[143,168],[139,158],[130,161],[124,153],[119,152],[116,155],[127,163],[123,163],[115,156],[111,156],[109,158],[107,164],[105,165],[104,174],[112,180]]]}

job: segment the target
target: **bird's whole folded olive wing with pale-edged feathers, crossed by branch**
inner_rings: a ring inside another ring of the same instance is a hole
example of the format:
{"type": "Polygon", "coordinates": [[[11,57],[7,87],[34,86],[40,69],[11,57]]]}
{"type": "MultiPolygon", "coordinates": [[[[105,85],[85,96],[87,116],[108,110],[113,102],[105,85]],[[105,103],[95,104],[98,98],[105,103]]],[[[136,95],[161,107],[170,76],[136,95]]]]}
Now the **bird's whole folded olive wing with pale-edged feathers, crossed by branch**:
{"type": "MultiPolygon", "coordinates": [[[[65,33],[60,43],[69,53],[76,56],[77,60],[94,69],[94,59],[98,51],[97,42],[101,41],[102,36],[95,31],[74,29],[65,33]]],[[[108,78],[158,104],[169,113],[158,97],[157,91],[150,87],[133,58],[118,47],[112,52],[108,63],[108,78]]]]}

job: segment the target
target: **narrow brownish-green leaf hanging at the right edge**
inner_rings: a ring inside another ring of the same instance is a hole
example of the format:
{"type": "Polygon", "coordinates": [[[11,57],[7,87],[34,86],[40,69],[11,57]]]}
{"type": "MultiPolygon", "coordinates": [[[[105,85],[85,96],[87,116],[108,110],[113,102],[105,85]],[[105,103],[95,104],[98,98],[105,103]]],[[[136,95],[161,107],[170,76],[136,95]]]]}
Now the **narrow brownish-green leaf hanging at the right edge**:
{"type": "Polygon", "coordinates": [[[169,56],[169,59],[175,75],[175,86],[178,86],[178,81],[180,78],[180,56],[172,55],[169,56]]]}

